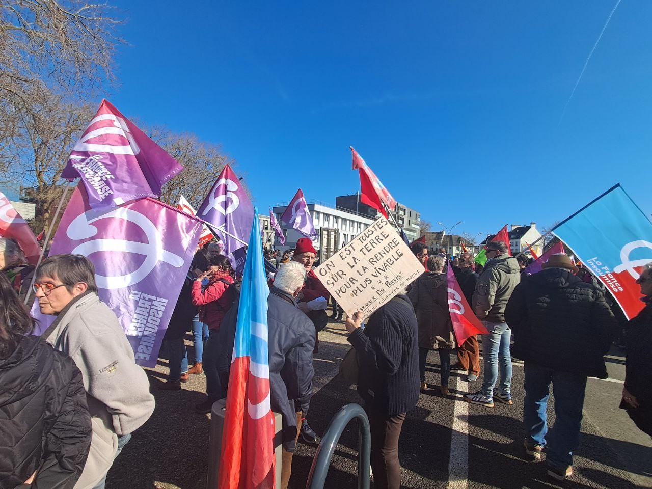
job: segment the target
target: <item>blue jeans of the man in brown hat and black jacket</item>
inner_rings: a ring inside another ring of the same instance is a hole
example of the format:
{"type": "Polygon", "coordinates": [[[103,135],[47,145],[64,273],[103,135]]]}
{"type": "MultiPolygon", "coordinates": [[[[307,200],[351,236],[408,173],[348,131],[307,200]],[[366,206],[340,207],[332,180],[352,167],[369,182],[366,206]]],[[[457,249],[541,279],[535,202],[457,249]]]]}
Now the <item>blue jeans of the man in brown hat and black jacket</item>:
{"type": "Polygon", "coordinates": [[[549,464],[562,468],[572,466],[572,451],[580,441],[586,377],[531,362],[526,362],[524,368],[523,424],[526,436],[541,446],[548,442],[546,460],[549,464]],[[546,406],[550,398],[550,383],[555,396],[556,420],[548,433],[546,406]]]}

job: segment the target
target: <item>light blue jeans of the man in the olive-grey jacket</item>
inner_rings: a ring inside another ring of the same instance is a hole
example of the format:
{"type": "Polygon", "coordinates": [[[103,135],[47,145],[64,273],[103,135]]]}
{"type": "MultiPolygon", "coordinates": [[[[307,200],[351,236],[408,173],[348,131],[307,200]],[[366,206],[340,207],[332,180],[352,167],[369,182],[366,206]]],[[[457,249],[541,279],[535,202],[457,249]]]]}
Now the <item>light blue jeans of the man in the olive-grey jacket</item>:
{"type": "Polygon", "coordinates": [[[494,387],[500,370],[498,390],[501,394],[509,394],[512,387],[512,356],[509,353],[509,342],[512,330],[507,323],[490,323],[482,321],[488,334],[482,334],[482,356],[484,357],[484,381],[482,395],[494,397],[494,387]]]}

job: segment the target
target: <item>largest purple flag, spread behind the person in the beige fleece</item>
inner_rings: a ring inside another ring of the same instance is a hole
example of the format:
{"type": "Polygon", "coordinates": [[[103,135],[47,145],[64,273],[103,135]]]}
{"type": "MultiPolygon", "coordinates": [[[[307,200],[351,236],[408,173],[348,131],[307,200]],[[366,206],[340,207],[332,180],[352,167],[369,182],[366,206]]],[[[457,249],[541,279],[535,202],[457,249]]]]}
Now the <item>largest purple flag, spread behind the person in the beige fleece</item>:
{"type": "MultiPolygon", "coordinates": [[[[80,254],[95,265],[98,295],[115,312],[136,355],[156,366],[181,286],[201,235],[200,220],[150,198],[93,211],[78,186],[61,217],[50,256],[80,254]]],[[[32,308],[44,331],[54,316],[32,308]]]]}

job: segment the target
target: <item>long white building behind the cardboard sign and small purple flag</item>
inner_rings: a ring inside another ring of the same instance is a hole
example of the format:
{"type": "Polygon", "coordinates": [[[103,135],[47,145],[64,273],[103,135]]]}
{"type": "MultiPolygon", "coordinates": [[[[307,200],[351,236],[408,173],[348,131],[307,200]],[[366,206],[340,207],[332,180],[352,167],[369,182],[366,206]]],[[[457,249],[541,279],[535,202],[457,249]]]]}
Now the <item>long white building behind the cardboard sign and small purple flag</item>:
{"type": "MultiPolygon", "coordinates": [[[[342,248],[344,244],[348,243],[359,235],[363,230],[368,228],[374,223],[374,220],[364,216],[355,211],[349,211],[342,207],[331,207],[330,205],[315,201],[308,200],[308,211],[312,216],[312,222],[315,226],[315,231],[319,234],[312,244],[318,252],[321,261],[330,258],[334,252],[342,248]]],[[[297,245],[299,238],[304,237],[301,233],[289,228],[288,224],[281,222],[281,216],[288,207],[289,202],[282,202],[275,205],[272,212],[276,215],[278,224],[286,235],[286,244],[281,246],[278,238],[274,236],[275,250],[289,250],[297,245]]]]}

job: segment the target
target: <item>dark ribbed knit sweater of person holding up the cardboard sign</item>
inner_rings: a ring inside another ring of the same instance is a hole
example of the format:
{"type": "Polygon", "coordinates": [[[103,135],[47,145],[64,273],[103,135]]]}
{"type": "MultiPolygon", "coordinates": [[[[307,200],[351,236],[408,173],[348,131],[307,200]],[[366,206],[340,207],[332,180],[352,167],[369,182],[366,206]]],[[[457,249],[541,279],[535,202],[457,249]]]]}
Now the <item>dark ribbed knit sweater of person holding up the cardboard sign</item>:
{"type": "Polygon", "coordinates": [[[406,295],[398,296],[370,316],[364,331],[349,334],[357,351],[358,393],[371,407],[397,415],[419,399],[417,318],[406,295]]]}

